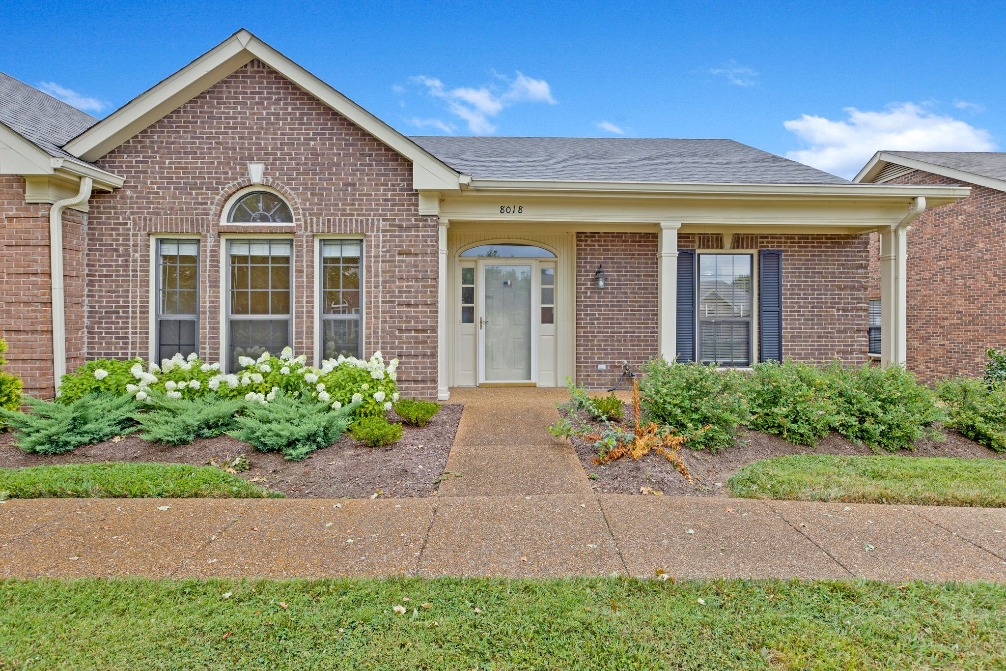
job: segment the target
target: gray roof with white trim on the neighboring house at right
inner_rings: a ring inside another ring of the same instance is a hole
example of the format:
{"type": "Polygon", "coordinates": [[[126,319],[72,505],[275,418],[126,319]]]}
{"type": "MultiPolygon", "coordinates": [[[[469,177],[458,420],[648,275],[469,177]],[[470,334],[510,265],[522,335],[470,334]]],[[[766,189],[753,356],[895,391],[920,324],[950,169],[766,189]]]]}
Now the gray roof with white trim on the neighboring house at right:
{"type": "Polygon", "coordinates": [[[882,184],[913,170],[1006,191],[1006,152],[879,151],[852,181],[882,184]]]}

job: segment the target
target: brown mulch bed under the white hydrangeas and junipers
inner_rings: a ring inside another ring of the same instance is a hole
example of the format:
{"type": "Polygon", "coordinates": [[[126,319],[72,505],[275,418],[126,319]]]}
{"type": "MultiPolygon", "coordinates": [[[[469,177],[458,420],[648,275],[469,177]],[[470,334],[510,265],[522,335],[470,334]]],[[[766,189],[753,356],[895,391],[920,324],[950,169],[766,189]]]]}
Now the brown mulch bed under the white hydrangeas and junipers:
{"type": "MultiPolygon", "coordinates": [[[[203,466],[211,460],[244,455],[252,469],[237,475],[288,497],[306,498],[409,498],[434,494],[444,475],[448,453],[461,421],[461,403],[445,404],[423,428],[403,427],[404,436],[387,448],[368,448],[348,434],[302,462],[291,462],[279,453],[265,453],[229,437],[170,447],[127,436],[62,455],[29,455],[14,446],[11,434],[0,435],[0,468],[22,468],[92,462],[154,462],[203,466]]],[[[398,421],[393,412],[390,421],[398,421]]]]}

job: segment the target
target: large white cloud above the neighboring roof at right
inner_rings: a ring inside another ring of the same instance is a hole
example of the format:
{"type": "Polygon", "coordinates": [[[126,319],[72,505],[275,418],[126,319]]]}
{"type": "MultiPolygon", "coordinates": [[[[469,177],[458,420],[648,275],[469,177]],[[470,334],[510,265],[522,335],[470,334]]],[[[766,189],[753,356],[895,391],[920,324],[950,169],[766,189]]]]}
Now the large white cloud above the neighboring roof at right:
{"type": "Polygon", "coordinates": [[[882,112],[846,108],[849,117],[831,121],[803,115],[783,126],[809,145],[787,156],[843,177],[852,177],[879,150],[994,151],[988,131],[953,117],[929,112],[913,103],[882,112]]]}

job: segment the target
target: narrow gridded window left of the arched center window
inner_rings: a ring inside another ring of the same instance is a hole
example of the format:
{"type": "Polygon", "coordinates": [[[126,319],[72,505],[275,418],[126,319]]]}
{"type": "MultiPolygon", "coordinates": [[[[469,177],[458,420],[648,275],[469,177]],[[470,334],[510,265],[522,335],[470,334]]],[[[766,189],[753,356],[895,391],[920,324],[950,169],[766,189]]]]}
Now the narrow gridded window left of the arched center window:
{"type": "Polygon", "coordinates": [[[158,239],[157,360],[199,352],[199,240],[158,239]]]}

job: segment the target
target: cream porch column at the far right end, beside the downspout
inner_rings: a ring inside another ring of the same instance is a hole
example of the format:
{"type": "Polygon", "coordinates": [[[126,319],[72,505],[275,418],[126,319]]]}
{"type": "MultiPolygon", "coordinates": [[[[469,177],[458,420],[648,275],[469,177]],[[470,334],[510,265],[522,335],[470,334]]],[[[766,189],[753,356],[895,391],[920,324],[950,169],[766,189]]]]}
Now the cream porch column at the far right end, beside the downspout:
{"type": "Polygon", "coordinates": [[[907,233],[895,225],[880,231],[880,363],[907,360],[907,233]]]}

